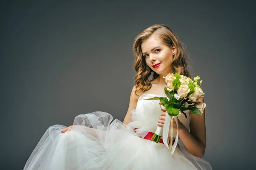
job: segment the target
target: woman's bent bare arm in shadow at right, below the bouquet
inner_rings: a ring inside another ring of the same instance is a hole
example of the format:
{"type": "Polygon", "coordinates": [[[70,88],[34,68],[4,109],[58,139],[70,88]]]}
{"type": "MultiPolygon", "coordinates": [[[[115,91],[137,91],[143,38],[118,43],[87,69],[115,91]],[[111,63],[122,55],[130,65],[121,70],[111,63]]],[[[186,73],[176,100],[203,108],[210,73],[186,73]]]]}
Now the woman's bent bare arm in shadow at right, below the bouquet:
{"type": "MultiPolygon", "coordinates": [[[[203,97],[198,100],[204,103],[203,97]]],[[[205,109],[201,115],[191,113],[190,132],[184,126],[179,127],[179,137],[186,150],[202,158],[206,148],[205,109]]]]}

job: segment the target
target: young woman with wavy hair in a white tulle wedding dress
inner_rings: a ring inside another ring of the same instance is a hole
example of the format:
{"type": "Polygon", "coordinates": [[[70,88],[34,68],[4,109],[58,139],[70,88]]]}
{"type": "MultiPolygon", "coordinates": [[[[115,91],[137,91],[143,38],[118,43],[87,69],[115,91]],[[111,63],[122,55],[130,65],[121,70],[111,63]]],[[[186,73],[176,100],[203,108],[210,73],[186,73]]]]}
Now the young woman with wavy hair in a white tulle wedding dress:
{"type": "MultiPolygon", "coordinates": [[[[153,25],[134,41],[137,71],[135,85],[124,122],[109,113],[96,111],[76,116],[70,127],[47,129],[29,157],[25,170],[211,170],[202,159],[206,147],[205,110],[201,115],[186,111],[178,117],[177,145],[171,155],[163,142],[153,142],[148,134],[163,126],[166,111],[159,101],[144,100],[165,96],[164,78],[187,71],[183,46],[165,25],[153,25]]],[[[199,99],[204,102],[203,98],[199,99]]],[[[175,121],[175,120],[174,120],[175,121]]],[[[174,134],[177,125],[173,124],[174,134]]],[[[176,134],[175,134],[176,133],[176,134]]]]}

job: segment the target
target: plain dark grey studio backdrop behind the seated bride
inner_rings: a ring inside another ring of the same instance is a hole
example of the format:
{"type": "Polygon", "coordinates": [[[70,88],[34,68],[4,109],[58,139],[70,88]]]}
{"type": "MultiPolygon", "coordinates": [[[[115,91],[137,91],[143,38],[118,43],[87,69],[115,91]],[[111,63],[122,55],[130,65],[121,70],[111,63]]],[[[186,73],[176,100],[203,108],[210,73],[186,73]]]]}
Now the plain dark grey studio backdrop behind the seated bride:
{"type": "Polygon", "coordinates": [[[225,1],[1,1],[0,167],[23,169],[45,130],[79,114],[123,121],[134,86],[134,38],[169,26],[205,93],[214,170],[255,165],[254,4],[225,1]]]}

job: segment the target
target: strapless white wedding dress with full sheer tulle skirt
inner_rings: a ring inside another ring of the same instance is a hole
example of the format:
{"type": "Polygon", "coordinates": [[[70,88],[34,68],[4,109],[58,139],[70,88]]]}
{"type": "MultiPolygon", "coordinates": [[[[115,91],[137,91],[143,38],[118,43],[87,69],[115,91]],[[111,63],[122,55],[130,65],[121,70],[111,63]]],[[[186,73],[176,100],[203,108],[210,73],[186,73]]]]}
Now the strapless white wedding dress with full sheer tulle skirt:
{"type": "MultiPolygon", "coordinates": [[[[159,100],[144,100],[156,94],[142,94],[132,122],[123,124],[102,111],[76,116],[72,129],[50,126],[27,160],[24,170],[212,170],[204,159],[177,145],[171,155],[163,143],[143,139],[157,128],[162,113],[159,100]],[[135,130],[134,130],[135,129],[135,130]]],[[[190,111],[179,116],[189,129],[190,111]]],[[[173,134],[176,136],[176,133],[173,134]]]]}

